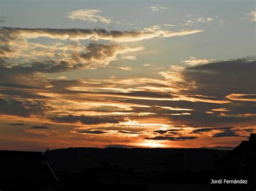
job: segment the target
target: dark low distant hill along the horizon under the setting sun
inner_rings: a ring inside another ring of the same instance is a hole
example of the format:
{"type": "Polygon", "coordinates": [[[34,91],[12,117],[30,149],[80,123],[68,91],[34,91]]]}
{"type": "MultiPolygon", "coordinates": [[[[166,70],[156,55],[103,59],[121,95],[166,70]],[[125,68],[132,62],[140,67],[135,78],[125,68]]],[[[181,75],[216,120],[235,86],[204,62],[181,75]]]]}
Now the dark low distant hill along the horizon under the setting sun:
{"type": "Polygon", "coordinates": [[[134,171],[145,171],[146,166],[147,171],[150,171],[156,165],[164,166],[171,154],[183,155],[184,167],[188,171],[209,171],[213,168],[214,161],[228,152],[230,151],[207,148],[71,147],[51,150],[45,155],[56,172],[79,173],[106,163],[134,171]]]}

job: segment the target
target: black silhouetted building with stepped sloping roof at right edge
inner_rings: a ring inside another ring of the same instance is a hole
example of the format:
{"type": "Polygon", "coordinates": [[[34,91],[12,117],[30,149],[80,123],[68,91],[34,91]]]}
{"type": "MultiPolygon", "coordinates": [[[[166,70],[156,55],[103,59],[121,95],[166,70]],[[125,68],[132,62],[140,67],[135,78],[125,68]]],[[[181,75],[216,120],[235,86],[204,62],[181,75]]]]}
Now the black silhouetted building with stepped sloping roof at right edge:
{"type": "MultiPolygon", "coordinates": [[[[255,190],[256,185],[256,136],[251,134],[248,141],[242,141],[230,153],[215,164],[217,179],[247,180],[247,184],[232,184],[232,190],[255,190]]],[[[223,185],[222,185],[223,186],[223,185]]]]}

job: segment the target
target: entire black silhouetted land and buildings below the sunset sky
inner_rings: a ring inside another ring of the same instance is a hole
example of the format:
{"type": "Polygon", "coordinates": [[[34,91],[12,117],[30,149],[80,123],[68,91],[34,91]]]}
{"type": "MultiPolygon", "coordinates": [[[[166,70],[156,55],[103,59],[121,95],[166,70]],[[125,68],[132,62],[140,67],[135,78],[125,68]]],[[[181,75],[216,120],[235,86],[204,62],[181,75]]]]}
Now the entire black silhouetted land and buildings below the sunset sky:
{"type": "Polygon", "coordinates": [[[0,151],[0,190],[255,190],[255,134],[232,151],[64,148],[0,151]],[[214,183],[211,183],[214,182],[214,183]]]}

